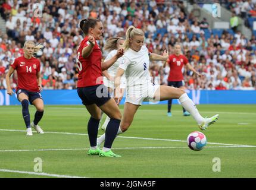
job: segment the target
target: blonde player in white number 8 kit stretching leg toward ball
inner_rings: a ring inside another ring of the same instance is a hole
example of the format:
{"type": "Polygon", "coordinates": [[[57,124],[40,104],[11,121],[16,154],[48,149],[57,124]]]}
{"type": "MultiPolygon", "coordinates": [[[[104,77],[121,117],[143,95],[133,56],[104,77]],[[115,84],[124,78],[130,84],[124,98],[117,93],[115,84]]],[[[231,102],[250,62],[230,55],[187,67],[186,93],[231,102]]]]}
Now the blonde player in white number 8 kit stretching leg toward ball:
{"type": "MultiPolygon", "coordinates": [[[[209,125],[214,124],[218,119],[218,114],[211,118],[203,118],[195,104],[188,97],[188,94],[181,88],[174,88],[167,85],[153,85],[149,75],[149,60],[166,61],[168,53],[164,51],[163,56],[149,53],[146,46],[143,46],[144,33],[141,29],[130,26],[126,31],[124,41],[123,61],[117,69],[115,75],[115,99],[120,102],[120,77],[126,74],[126,101],[124,104],[123,117],[117,135],[126,131],[132,124],[133,118],[143,101],[162,101],[168,99],[179,99],[182,106],[193,116],[201,130],[205,130],[209,125]]],[[[98,138],[97,144],[104,141],[104,134],[98,138]]]]}

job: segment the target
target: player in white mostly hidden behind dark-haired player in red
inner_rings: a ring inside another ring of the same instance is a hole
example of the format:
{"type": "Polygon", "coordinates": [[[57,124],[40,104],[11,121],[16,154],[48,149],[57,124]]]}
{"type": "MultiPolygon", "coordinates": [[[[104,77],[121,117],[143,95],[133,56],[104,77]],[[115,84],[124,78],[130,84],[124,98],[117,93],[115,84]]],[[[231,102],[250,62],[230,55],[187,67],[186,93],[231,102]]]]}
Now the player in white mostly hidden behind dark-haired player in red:
{"type": "MultiPolygon", "coordinates": [[[[109,52],[108,55],[105,58],[105,61],[108,61],[109,59],[113,58],[115,54],[117,53],[117,49],[119,49],[121,46],[123,46],[124,39],[121,37],[112,37],[107,40],[107,44],[104,46],[104,50],[109,52]]],[[[114,97],[114,77],[115,73],[117,72],[117,68],[121,62],[121,59],[117,59],[117,61],[114,62],[110,68],[108,68],[107,71],[103,71],[102,74],[104,74],[104,85],[108,87],[108,91],[110,92],[110,96],[114,97]]],[[[120,84],[120,90],[121,94],[124,93],[124,89],[126,88],[126,79],[125,77],[121,78],[121,84],[120,84]]],[[[101,126],[101,129],[105,130],[108,122],[110,122],[110,118],[107,116],[105,119],[104,124],[101,126]]]]}

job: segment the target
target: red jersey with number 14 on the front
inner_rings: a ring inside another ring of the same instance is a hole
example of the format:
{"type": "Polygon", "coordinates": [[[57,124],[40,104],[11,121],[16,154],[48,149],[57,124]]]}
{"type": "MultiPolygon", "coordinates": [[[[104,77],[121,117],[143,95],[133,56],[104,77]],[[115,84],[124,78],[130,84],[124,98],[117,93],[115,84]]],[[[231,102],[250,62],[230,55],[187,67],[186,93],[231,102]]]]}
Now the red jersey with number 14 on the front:
{"type": "Polygon", "coordinates": [[[40,61],[38,59],[34,57],[26,59],[24,56],[21,56],[16,58],[11,66],[16,69],[18,74],[16,90],[39,91],[37,74],[40,72],[40,61]]]}

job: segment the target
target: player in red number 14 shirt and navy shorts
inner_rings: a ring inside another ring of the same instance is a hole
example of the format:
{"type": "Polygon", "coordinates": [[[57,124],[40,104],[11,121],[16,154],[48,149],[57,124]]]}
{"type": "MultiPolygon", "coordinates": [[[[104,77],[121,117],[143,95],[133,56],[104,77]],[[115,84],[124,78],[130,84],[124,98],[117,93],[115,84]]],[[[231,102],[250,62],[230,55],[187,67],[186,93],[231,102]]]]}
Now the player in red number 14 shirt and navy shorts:
{"type": "Polygon", "coordinates": [[[42,91],[42,79],[40,77],[40,61],[33,55],[43,49],[43,45],[35,46],[33,41],[24,43],[24,55],[16,58],[11,64],[6,75],[7,93],[11,96],[14,92],[10,86],[10,77],[16,70],[18,75],[18,85],[16,94],[21,102],[22,115],[27,128],[27,135],[33,135],[31,127],[39,134],[43,130],[38,125],[43,116],[43,100],[40,94],[42,91]],[[30,124],[29,103],[36,107],[35,119],[30,124]]]}

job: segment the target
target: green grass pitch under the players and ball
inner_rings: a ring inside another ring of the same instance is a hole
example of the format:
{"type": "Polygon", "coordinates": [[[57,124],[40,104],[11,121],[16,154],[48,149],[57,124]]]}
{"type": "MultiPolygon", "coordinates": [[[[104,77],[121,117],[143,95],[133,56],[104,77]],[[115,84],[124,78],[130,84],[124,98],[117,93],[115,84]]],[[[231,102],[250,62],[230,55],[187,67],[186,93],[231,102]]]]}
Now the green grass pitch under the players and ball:
{"type": "MultiPolygon", "coordinates": [[[[203,150],[188,148],[186,137],[200,130],[180,105],[173,105],[170,118],[166,105],[143,105],[114,141],[113,151],[122,157],[106,158],[86,154],[89,114],[83,106],[45,106],[39,123],[45,134],[32,137],[26,137],[21,106],[0,106],[0,178],[256,178],[256,106],[197,107],[202,116],[220,114],[202,131],[203,150]],[[42,172],[34,171],[37,157],[42,172]],[[219,172],[213,171],[214,158],[220,159],[219,172]]],[[[35,108],[29,109],[33,119],[35,108]]]]}

